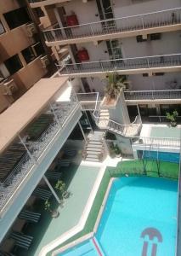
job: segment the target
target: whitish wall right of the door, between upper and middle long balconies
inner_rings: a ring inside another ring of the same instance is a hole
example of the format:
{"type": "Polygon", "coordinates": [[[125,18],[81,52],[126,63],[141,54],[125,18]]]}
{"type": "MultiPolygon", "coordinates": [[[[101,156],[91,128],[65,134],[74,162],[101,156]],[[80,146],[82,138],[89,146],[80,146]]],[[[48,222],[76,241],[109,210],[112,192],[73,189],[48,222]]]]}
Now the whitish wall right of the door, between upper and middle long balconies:
{"type": "Polygon", "coordinates": [[[124,58],[181,53],[181,32],[164,32],[160,40],[148,42],[137,43],[136,37],[120,41],[124,58]]]}

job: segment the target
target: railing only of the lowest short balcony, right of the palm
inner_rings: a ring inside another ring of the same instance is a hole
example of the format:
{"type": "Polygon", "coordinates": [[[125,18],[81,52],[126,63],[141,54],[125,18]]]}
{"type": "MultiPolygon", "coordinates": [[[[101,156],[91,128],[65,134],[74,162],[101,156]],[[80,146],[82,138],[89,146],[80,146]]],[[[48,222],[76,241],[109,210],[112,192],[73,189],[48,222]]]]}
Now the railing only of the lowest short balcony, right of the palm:
{"type": "Polygon", "coordinates": [[[125,100],[181,99],[181,90],[131,90],[124,92],[125,100]]]}

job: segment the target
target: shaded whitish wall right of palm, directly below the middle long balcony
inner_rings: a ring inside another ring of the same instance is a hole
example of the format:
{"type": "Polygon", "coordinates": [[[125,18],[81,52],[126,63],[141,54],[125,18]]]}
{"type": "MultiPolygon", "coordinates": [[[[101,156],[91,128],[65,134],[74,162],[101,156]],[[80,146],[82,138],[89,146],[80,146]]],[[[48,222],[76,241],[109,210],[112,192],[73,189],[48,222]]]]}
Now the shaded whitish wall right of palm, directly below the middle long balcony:
{"type": "Polygon", "coordinates": [[[163,76],[143,77],[129,75],[130,90],[175,90],[181,89],[181,73],[165,73],[163,76]],[[176,81],[177,83],[174,83],[176,81]]]}

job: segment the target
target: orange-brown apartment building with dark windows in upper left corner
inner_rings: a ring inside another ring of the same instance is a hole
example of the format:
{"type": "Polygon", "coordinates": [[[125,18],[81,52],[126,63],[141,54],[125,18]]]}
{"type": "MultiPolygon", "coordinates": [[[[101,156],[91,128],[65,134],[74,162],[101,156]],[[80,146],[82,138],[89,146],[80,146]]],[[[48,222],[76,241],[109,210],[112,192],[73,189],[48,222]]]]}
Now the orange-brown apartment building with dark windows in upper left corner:
{"type": "Polygon", "coordinates": [[[25,1],[0,6],[0,113],[48,73],[48,56],[25,1]]]}

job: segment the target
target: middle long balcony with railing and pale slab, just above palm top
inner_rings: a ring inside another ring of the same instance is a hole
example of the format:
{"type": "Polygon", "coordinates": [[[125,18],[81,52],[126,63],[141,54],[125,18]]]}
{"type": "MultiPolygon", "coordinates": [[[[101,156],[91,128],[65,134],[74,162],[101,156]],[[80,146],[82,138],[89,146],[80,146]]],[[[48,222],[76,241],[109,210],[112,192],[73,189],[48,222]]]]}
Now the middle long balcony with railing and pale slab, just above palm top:
{"type": "Polygon", "coordinates": [[[57,66],[60,75],[67,77],[95,76],[102,73],[137,74],[181,71],[181,54],[155,55],[109,61],[90,61],[57,66]]]}

